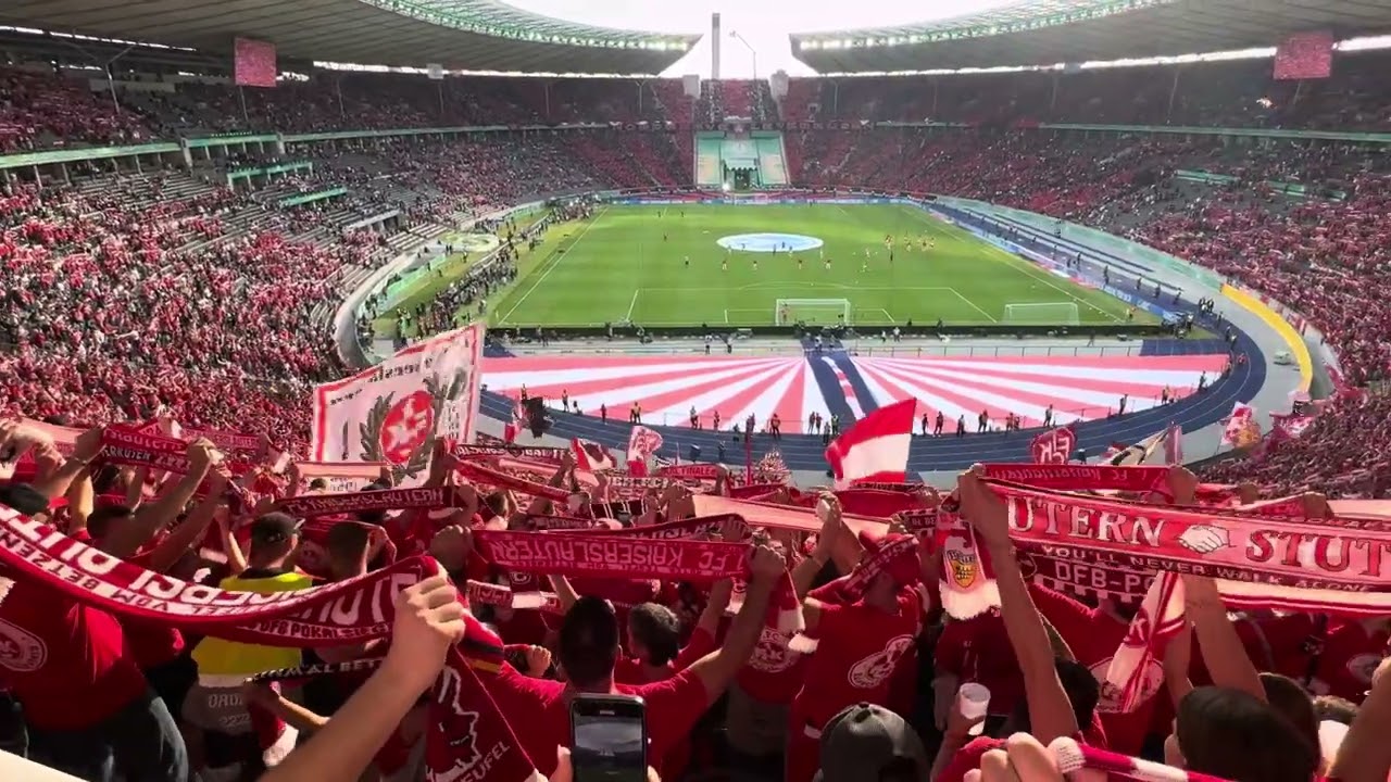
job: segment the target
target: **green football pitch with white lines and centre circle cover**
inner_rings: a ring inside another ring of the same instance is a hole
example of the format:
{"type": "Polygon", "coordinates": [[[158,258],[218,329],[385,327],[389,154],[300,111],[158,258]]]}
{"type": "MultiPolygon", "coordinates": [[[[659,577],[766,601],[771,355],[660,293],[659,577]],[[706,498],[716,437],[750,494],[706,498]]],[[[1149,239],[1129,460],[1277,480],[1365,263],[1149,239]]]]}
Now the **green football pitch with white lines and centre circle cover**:
{"type": "Polygon", "coordinates": [[[1128,310],[897,205],[601,206],[545,245],[490,308],[492,326],[833,324],[847,310],[854,326],[1061,326],[1124,323],[1128,310]],[[750,234],[819,246],[755,252],[759,239],[736,238],[750,234]]]}

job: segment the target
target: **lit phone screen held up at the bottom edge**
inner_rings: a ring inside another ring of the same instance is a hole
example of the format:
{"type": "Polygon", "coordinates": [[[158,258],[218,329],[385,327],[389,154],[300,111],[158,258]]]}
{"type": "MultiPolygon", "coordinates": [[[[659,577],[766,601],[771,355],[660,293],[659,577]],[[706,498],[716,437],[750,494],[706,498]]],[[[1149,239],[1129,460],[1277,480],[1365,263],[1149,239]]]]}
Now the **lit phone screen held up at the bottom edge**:
{"type": "Polygon", "coordinates": [[[570,708],[570,732],[574,782],[647,782],[641,700],[577,700],[570,708]]]}

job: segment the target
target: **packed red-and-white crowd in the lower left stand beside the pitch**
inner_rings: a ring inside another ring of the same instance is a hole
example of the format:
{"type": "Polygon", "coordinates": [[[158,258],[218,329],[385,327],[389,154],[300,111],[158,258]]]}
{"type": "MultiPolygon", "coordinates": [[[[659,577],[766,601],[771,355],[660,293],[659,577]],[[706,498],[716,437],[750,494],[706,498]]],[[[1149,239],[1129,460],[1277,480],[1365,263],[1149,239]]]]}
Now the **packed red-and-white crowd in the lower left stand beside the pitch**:
{"type": "MultiPolygon", "coordinates": [[[[312,173],[236,191],[172,171],[14,181],[0,198],[0,413],[95,424],[168,408],[189,426],[302,444],[307,388],[345,370],[327,327],[344,280],[395,249],[388,232],[344,225],[401,210],[391,224],[413,237],[529,195],[651,185],[587,164],[586,143],[494,134],[324,150],[312,173]],[[348,195],[281,203],[335,186],[348,195]]],[[[472,303],[481,289],[458,294],[472,303]]]]}

